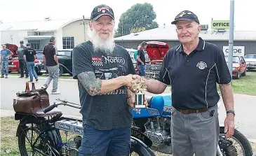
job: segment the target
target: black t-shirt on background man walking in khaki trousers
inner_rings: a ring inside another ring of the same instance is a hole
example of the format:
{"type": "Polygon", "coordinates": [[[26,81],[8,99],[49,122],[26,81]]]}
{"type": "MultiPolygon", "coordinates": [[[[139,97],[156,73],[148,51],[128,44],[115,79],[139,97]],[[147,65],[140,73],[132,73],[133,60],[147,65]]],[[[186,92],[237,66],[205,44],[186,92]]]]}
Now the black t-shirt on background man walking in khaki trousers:
{"type": "Polygon", "coordinates": [[[54,60],[54,55],[58,54],[57,47],[52,43],[48,43],[43,47],[43,55],[46,58],[46,66],[56,66],[57,63],[54,60]]]}

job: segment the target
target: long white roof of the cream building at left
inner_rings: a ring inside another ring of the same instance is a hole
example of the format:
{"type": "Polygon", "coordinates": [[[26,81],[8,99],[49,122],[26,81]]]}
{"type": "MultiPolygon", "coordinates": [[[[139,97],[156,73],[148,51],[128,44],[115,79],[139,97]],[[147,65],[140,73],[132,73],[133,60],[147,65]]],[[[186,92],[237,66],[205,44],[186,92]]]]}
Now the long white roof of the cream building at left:
{"type": "MultiPolygon", "coordinates": [[[[90,19],[90,18],[86,18],[90,19]]],[[[0,24],[0,31],[6,30],[26,30],[26,31],[56,31],[65,27],[67,24],[82,20],[78,19],[60,19],[60,20],[36,20],[22,22],[8,22],[0,24]]]]}

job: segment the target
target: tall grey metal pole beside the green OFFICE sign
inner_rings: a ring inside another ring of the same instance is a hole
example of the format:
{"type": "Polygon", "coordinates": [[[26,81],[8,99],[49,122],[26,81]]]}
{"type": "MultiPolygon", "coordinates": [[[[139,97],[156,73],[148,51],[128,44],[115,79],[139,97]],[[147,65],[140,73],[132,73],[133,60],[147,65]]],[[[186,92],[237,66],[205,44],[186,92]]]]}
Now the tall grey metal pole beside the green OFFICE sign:
{"type": "Polygon", "coordinates": [[[232,78],[233,68],[233,44],[234,44],[234,0],[230,0],[230,19],[229,19],[229,73],[232,78]]]}

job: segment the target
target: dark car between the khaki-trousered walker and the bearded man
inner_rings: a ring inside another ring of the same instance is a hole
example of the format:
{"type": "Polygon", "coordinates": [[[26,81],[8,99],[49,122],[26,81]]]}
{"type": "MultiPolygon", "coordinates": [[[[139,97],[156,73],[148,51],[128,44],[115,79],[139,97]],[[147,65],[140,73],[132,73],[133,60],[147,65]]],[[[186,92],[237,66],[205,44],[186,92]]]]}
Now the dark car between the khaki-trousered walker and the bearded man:
{"type": "Polygon", "coordinates": [[[60,76],[68,73],[72,76],[72,49],[58,50],[58,60],[60,66],[60,76]]]}

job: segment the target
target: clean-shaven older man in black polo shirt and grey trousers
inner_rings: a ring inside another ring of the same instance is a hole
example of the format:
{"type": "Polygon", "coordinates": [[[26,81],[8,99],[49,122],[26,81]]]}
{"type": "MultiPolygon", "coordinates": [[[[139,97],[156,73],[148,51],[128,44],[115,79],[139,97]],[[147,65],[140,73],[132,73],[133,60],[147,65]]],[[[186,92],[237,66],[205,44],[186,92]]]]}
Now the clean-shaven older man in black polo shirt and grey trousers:
{"type": "Polygon", "coordinates": [[[216,83],[227,111],[224,132],[227,137],[234,134],[234,99],[224,54],[217,45],[198,37],[201,26],[191,11],[179,13],[172,24],[181,44],[167,52],[157,80],[144,79],[147,90],[160,94],[166,85],[172,86],[173,155],[216,155],[220,99],[216,83]]]}

